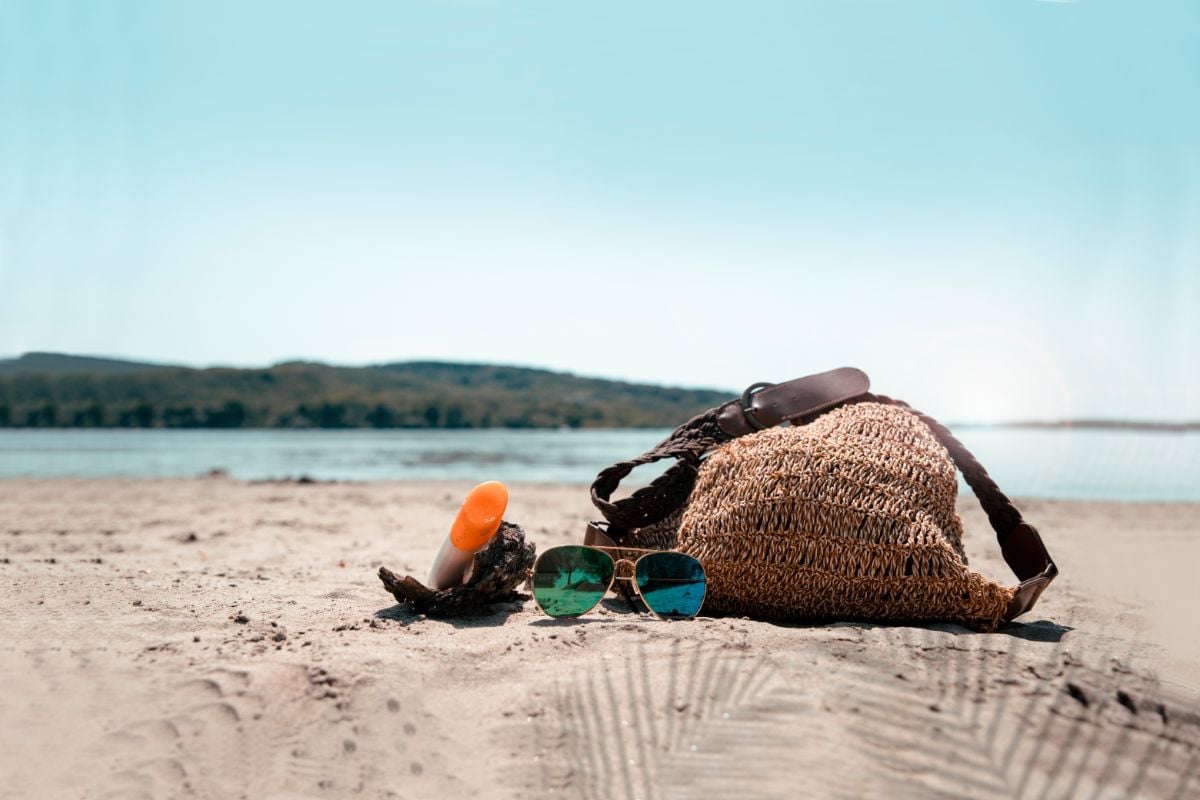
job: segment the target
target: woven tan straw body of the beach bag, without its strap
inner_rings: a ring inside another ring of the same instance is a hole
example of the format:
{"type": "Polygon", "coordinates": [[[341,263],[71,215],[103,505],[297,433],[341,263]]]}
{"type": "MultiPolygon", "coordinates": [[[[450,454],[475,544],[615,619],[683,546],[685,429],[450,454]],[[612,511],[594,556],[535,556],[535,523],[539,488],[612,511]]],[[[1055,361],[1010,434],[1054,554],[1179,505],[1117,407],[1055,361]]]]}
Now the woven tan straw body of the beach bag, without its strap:
{"type": "Polygon", "coordinates": [[[719,446],[682,515],[635,540],[698,558],[706,610],[991,630],[1013,590],[967,569],[956,493],[920,419],[856,403],[719,446]]]}

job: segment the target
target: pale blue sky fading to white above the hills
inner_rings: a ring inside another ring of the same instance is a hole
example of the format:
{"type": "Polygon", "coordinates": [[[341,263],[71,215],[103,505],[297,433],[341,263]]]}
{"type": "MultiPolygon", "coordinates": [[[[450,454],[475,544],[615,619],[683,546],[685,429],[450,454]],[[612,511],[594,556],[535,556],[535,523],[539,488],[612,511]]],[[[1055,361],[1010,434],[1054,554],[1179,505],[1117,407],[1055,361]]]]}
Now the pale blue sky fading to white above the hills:
{"type": "Polygon", "coordinates": [[[0,0],[0,356],[1180,420],[1198,308],[1192,0],[0,0]]]}

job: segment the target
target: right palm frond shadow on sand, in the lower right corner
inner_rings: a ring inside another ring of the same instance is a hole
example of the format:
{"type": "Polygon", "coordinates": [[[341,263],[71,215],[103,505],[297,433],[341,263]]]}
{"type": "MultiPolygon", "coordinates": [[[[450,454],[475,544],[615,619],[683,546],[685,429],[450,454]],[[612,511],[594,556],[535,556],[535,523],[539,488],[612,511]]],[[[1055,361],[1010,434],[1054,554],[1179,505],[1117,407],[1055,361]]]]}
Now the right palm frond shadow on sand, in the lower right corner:
{"type": "Polygon", "coordinates": [[[1078,661],[1014,640],[947,648],[905,628],[914,649],[948,655],[916,680],[863,670],[859,733],[912,798],[1190,798],[1200,792],[1194,698],[1109,658],[1078,661]],[[949,650],[948,654],[943,651],[949,650]],[[904,678],[904,679],[901,679],[904,678]]]}

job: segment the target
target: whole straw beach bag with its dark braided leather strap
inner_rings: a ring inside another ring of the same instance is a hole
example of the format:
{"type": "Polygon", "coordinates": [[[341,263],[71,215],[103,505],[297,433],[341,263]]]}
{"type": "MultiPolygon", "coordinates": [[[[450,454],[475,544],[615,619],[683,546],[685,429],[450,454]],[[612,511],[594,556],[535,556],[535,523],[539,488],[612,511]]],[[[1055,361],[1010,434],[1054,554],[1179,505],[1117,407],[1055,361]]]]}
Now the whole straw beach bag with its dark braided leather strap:
{"type": "Polygon", "coordinates": [[[1037,530],[948,429],[844,368],[755,384],[592,486],[589,543],[678,548],[708,575],[706,610],[762,619],[944,620],[992,630],[1057,575],[1037,530]],[[612,500],[638,464],[676,463],[612,500]],[[1020,583],[967,566],[955,468],[1020,583]]]}

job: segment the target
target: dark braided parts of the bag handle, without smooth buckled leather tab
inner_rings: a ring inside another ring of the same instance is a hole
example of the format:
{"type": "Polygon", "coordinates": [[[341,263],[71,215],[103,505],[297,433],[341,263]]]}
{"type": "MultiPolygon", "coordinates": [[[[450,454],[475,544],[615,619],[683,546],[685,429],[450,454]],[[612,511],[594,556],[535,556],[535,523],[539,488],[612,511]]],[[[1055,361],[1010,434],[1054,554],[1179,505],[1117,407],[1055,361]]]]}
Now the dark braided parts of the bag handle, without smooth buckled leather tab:
{"type": "MultiPolygon", "coordinates": [[[[743,396],[743,403],[749,395],[750,390],[743,396]]],[[[793,421],[811,422],[816,416],[850,403],[895,405],[908,410],[925,423],[937,441],[946,447],[954,465],[962,473],[967,486],[979,500],[984,513],[988,515],[988,522],[996,531],[996,541],[1000,543],[1004,561],[1021,582],[1004,613],[1004,619],[1012,620],[1031,609],[1042,591],[1058,575],[1058,569],[1050,558],[1040,534],[1025,522],[1021,512],[966,445],[959,441],[949,428],[928,414],[918,411],[904,401],[870,392],[823,405],[811,414],[798,414],[793,421]]],[[[709,409],[694,416],[646,453],[630,461],[617,462],[600,471],[592,483],[592,503],[608,521],[608,536],[619,542],[628,531],[661,522],[683,507],[691,495],[700,464],[708,451],[736,438],[718,422],[722,408],[726,407],[709,409]],[[628,498],[612,499],[620,481],[629,476],[635,467],[666,458],[674,458],[676,463],[662,475],[628,498]]],[[[743,408],[748,410],[745,405],[743,408]]],[[[748,416],[752,416],[749,410],[748,416]]]]}

